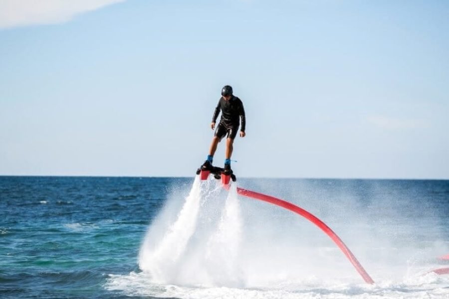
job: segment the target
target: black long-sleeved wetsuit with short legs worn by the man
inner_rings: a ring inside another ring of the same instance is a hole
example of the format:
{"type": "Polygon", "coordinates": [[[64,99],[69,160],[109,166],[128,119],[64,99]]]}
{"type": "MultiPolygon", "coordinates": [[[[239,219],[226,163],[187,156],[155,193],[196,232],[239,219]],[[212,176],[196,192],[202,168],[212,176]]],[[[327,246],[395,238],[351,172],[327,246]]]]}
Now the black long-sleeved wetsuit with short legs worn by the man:
{"type": "Polygon", "coordinates": [[[215,108],[214,116],[212,117],[213,123],[217,121],[220,111],[222,111],[222,117],[215,130],[215,136],[222,139],[227,133],[227,138],[234,139],[237,135],[238,126],[240,125],[240,118],[240,131],[245,132],[245,110],[243,109],[243,103],[239,98],[231,96],[230,99],[226,101],[224,97],[221,97],[215,108]]]}

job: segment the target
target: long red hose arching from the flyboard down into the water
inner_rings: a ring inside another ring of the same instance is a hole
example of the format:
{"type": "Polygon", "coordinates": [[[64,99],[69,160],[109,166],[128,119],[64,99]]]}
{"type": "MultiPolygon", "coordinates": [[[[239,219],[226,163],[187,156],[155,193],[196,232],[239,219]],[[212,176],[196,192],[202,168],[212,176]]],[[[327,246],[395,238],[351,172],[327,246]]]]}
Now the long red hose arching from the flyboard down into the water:
{"type": "MultiPolygon", "coordinates": [[[[227,189],[229,188],[228,185],[227,186],[225,185],[225,187],[227,189]]],[[[343,241],[324,222],[322,222],[320,219],[318,219],[314,215],[310,214],[306,210],[304,210],[292,203],[289,203],[285,200],[275,198],[275,197],[272,197],[269,195],[257,193],[257,192],[250,191],[250,190],[245,190],[245,189],[238,188],[238,187],[237,187],[237,193],[241,194],[243,196],[251,197],[254,199],[258,199],[258,200],[262,200],[262,201],[266,201],[266,202],[278,205],[287,210],[295,212],[295,213],[303,216],[307,220],[311,221],[313,224],[318,226],[323,232],[325,232],[335,242],[335,244],[337,244],[337,246],[341,249],[341,251],[343,251],[343,253],[349,259],[351,264],[357,270],[357,272],[359,272],[359,274],[365,280],[365,282],[368,284],[374,284],[374,281],[371,279],[371,277],[368,275],[368,273],[365,271],[365,269],[363,269],[362,265],[360,265],[359,261],[352,254],[352,252],[349,250],[349,248],[346,247],[345,243],[343,243],[343,241]]]]}

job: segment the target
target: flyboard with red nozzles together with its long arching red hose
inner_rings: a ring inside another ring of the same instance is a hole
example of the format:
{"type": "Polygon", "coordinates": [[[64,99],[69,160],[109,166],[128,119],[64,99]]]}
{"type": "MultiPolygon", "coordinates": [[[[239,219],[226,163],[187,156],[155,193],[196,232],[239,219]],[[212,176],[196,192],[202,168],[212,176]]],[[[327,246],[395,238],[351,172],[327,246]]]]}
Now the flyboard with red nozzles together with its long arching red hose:
{"type": "MultiPolygon", "coordinates": [[[[236,181],[235,175],[232,173],[232,170],[228,173],[224,171],[224,168],[215,167],[212,166],[209,169],[205,168],[198,168],[197,169],[197,175],[200,175],[201,180],[207,180],[209,175],[213,174],[216,179],[222,180],[223,187],[228,190],[229,189],[229,183],[230,180],[236,181]]],[[[373,279],[369,276],[369,274],[365,271],[365,269],[362,267],[362,265],[359,263],[359,261],[356,259],[354,254],[349,250],[349,248],[343,243],[343,241],[337,236],[336,233],[332,229],[330,229],[324,222],[322,222],[318,217],[312,215],[311,213],[307,212],[306,210],[279,198],[269,196],[262,193],[257,193],[250,190],[245,190],[242,188],[237,187],[237,193],[246,196],[249,198],[257,199],[260,201],[269,202],[271,204],[280,206],[282,208],[285,208],[287,210],[290,210],[296,214],[301,215],[302,217],[306,218],[313,224],[315,224],[318,228],[320,228],[324,233],[326,233],[332,241],[341,249],[343,254],[348,258],[348,260],[351,262],[351,264],[354,266],[354,268],[357,270],[357,272],[362,276],[363,280],[368,284],[374,284],[373,279]]]]}

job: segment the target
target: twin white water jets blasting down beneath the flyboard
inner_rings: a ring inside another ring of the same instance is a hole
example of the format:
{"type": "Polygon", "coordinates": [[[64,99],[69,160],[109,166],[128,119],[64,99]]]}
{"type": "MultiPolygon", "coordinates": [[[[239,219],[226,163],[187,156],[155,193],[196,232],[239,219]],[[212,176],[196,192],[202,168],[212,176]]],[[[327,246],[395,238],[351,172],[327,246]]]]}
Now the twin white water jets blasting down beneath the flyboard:
{"type": "Polygon", "coordinates": [[[226,192],[218,181],[197,176],[176,220],[150,227],[139,267],[156,283],[238,286],[240,240],[236,186],[226,192]]]}

